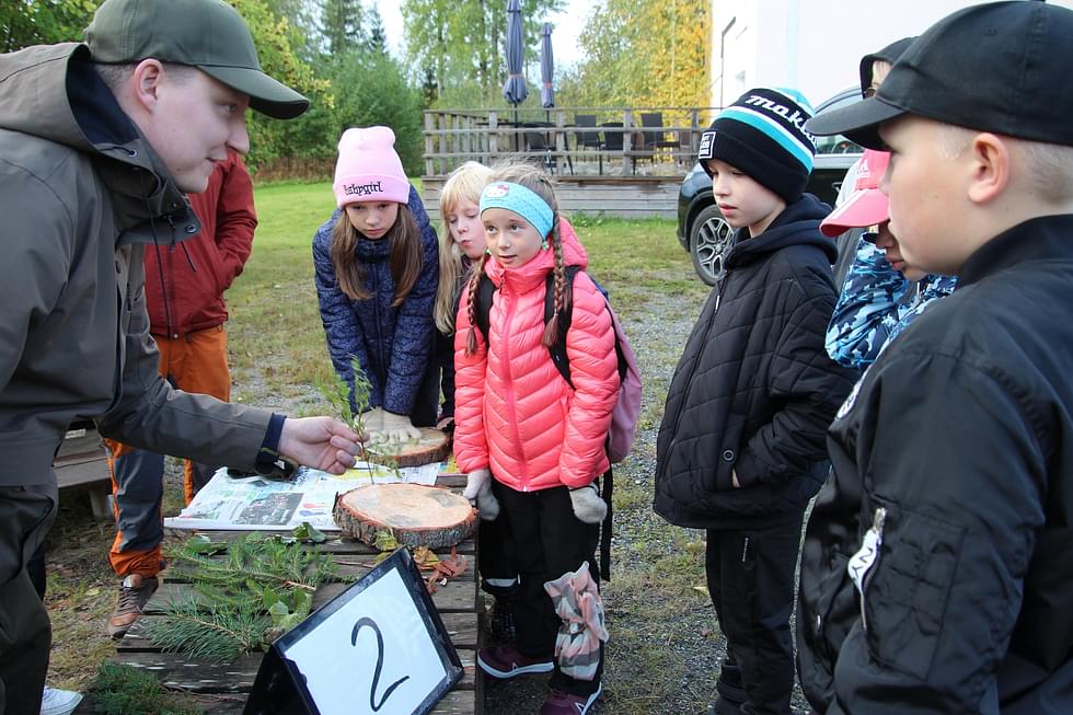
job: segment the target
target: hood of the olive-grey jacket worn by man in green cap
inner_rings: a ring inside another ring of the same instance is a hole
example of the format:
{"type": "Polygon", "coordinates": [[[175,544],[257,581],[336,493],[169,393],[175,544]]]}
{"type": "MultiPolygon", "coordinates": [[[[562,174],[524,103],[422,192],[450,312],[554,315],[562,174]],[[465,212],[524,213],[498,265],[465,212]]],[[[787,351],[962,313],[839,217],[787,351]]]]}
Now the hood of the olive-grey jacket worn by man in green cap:
{"type": "Polygon", "coordinates": [[[0,56],[0,128],[91,155],[112,194],[120,243],[181,241],[197,232],[185,195],[93,69],[85,45],[42,45],[0,56]],[[164,227],[150,224],[160,218],[170,219],[174,237],[161,237],[164,227]]]}

